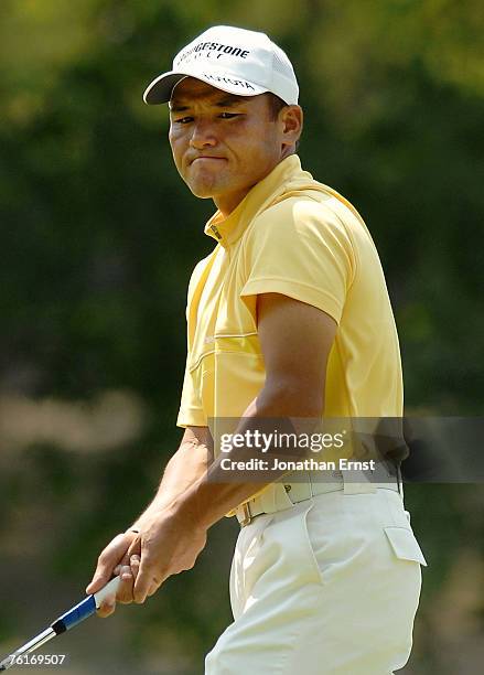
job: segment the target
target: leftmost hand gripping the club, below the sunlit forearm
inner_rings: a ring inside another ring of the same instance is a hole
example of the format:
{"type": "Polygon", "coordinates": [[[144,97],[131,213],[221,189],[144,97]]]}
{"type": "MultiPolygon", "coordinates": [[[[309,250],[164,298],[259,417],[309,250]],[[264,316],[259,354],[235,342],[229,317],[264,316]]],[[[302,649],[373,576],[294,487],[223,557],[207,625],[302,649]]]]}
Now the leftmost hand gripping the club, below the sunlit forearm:
{"type": "Polygon", "coordinates": [[[128,549],[139,535],[136,532],[125,532],[117,535],[101,551],[96,571],[90,583],[86,588],[86,593],[96,593],[112,578],[119,575],[121,582],[115,596],[107,597],[97,610],[98,617],[105,618],[112,614],[116,602],[127,604],[133,602],[132,589],[138,575],[140,557],[131,548],[128,557],[128,549]]]}

